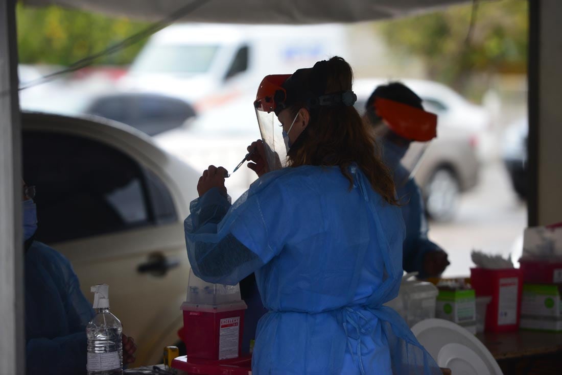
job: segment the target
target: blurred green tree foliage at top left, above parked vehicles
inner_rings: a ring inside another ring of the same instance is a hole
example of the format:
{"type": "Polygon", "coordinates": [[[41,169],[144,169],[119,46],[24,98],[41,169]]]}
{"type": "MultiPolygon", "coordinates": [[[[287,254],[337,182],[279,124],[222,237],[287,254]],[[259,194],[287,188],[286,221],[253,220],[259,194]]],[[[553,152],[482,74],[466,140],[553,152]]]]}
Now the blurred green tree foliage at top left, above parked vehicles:
{"type": "MultiPolygon", "coordinates": [[[[119,0],[117,0],[119,1],[119,0]]],[[[125,18],[49,6],[17,4],[17,43],[21,63],[69,65],[147,26],[125,18]]],[[[137,43],[95,63],[130,63],[144,43],[137,43]]]]}

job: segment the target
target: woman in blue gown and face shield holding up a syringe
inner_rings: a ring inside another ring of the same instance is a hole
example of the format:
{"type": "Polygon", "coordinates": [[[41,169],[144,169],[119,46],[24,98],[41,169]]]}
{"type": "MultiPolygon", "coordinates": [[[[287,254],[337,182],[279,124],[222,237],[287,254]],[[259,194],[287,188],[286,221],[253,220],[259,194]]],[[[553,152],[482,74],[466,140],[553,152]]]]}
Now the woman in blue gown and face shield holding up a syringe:
{"type": "Polygon", "coordinates": [[[404,222],[351,83],[339,57],[266,76],[254,103],[260,178],[231,205],[226,171],[210,166],[185,219],[198,277],[234,285],[255,272],[268,313],[253,374],[441,373],[383,306],[400,287],[404,222]]]}

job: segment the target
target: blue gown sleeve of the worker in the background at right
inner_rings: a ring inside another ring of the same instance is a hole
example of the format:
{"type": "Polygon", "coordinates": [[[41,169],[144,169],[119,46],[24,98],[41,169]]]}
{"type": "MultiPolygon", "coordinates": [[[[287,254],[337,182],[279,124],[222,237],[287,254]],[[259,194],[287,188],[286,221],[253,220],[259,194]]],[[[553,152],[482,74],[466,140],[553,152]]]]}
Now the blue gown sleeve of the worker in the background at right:
{"type": "Polygon", "coordinates": [[[425,218],[422,193],[413,179],[406,182],[404,196],[407,198],[407,203],[402,206],[402,216],[406,225],[403,267],[406,272],[419,272],[419,277],[423,278],[427,276],[423,269],[425,254],[431,251],[445,251],[428,239],[429,228],[425,218]]]}

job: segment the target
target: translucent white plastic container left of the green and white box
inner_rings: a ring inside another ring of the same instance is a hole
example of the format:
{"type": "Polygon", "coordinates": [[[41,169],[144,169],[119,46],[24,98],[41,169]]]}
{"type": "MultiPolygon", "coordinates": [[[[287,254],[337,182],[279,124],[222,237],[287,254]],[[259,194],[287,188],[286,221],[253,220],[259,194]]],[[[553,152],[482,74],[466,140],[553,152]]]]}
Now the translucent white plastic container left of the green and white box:
{"type": "Polygon", "coordinates": [[[398,296],[386,303],[404,318],[409,327],[425,319],[435,317],[438,290],[435,285],[426,281],[418,281],[406,274],[402,278],[398,296]]]}

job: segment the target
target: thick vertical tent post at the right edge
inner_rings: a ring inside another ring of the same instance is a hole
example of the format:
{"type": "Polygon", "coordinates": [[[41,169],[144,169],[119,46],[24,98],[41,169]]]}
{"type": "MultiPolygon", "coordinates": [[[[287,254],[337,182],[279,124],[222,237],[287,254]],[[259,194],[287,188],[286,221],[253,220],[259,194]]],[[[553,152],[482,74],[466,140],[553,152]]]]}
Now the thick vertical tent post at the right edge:
{"type": "Polygon", "coordinates": [[[562,2],[529,1],[529,226],[562,221],[562,2]]]}

